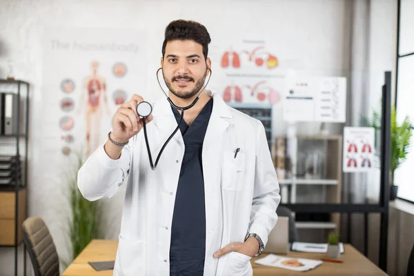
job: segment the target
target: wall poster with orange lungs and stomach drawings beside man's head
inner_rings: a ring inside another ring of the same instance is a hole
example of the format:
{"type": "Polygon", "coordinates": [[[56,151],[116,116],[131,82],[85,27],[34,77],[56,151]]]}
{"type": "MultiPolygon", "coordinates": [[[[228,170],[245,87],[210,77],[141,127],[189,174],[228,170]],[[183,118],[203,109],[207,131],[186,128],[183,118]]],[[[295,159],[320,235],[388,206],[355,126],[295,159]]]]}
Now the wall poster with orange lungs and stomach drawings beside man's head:
{"type": "Polygon", "coordinates": [[[266,40],[241,39],[215,50],[214,64],[217,90],[230,105],[280,101],[283,75],[275,43],[266,40]]]}

